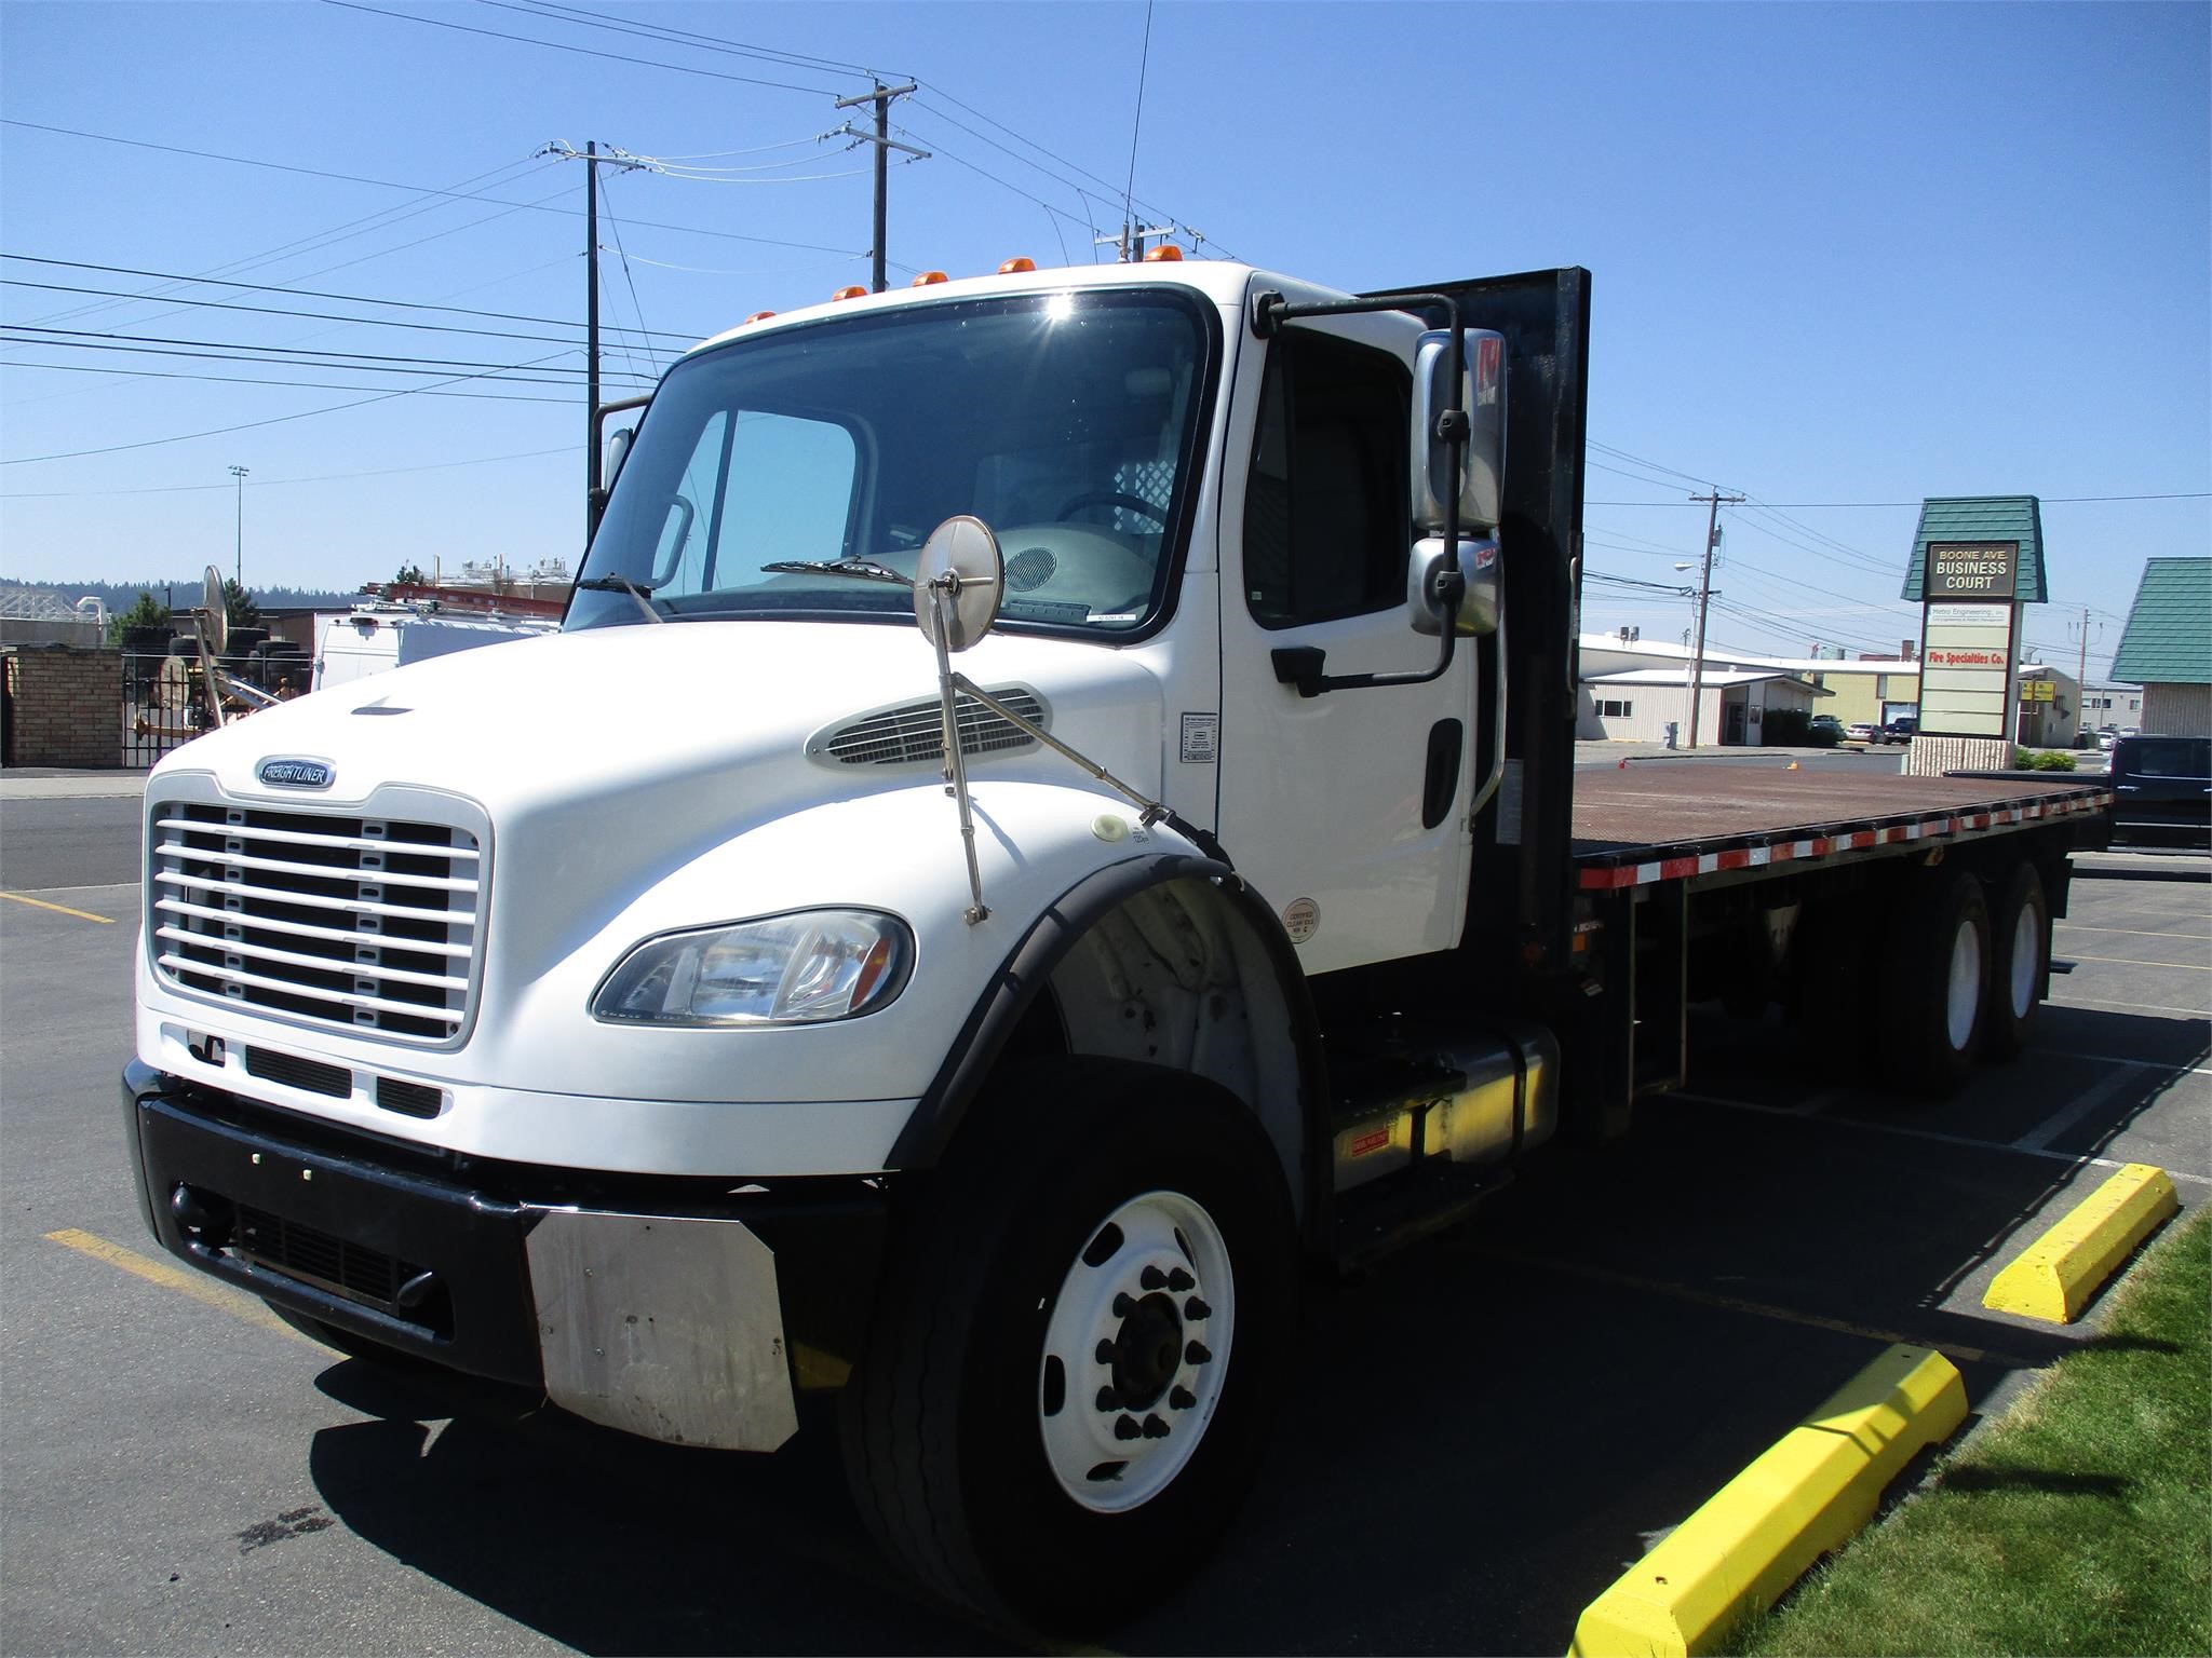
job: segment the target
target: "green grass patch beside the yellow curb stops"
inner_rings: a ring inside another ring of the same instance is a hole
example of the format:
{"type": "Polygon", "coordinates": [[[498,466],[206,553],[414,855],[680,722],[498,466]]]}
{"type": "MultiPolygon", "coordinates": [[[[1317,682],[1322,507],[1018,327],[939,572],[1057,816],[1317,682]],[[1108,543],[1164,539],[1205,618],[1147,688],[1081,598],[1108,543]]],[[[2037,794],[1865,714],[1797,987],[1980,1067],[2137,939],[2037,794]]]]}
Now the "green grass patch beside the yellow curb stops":
{"type": "Polygon", "coordinates": [[[2212,1651],[2212,1211],[1736,1651],[2212,1651]]]}

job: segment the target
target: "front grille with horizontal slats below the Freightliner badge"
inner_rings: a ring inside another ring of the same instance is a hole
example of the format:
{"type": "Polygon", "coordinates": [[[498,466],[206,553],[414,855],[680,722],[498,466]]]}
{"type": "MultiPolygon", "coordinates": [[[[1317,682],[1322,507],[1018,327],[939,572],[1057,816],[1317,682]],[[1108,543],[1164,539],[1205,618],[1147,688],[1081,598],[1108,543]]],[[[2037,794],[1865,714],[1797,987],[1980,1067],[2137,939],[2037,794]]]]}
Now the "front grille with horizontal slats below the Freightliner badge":
{"type": "Polygon", "coordinates": [[[173,986],[363,1037],[460,1037],[482,935],[471,831],[168,800],[150,844],[146,933],[173,986]]]}

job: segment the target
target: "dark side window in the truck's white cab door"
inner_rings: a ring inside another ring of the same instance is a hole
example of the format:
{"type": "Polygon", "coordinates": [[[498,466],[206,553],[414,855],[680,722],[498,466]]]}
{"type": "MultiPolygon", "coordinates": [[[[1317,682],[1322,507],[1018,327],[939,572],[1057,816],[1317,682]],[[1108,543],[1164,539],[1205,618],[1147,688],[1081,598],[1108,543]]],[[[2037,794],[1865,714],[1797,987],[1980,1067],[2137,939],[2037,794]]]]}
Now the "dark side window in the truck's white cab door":
{"type": "Polygon", "coordinates": [[[1267,360],[1245,489],[1245,604],[1263,628],[1405,604],[1411,376],[1292,329],[1267,360]]]}

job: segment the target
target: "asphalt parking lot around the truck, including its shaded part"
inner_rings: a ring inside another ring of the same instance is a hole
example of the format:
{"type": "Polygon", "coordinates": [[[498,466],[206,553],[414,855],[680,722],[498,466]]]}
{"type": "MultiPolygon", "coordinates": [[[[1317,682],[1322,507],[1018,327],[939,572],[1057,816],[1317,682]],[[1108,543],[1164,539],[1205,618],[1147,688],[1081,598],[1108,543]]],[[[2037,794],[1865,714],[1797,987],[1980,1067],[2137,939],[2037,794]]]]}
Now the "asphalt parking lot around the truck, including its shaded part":
{"type": "MultiPolygon", "coordinates": [[[[115,1092],[128,825],[0,800],[0,1651],[991,1645],[878,1563],[834,1435],[684,1452],[394,1379],[157,1256],[115,1092]]],[[[1694,1088],[1626,1143],[1318,1287],[1243,1523],[1117,1647],[1562,1651],[1887,1342],[1949,1351],[1989,1410],[2084,1340],[1980,1293],[2119,1163],[2212,1194],[2212,858],[2077,867],[2035,1050],[1958,1101],[1836,1063],[1878,1032],[1809,1054],[1701,1019],[1694,1088]]]]}

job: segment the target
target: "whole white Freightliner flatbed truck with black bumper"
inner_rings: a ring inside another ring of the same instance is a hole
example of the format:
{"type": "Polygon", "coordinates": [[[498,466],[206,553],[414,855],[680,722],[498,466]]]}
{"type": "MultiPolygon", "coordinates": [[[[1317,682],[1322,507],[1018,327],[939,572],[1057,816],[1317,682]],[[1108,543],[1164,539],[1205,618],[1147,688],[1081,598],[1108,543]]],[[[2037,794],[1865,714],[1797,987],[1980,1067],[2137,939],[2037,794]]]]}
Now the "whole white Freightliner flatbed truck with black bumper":
{"type": "Polygon", "coordinates": [[[560,634],[150,776],[148,1225],[653,1439],[841,1388],[940,1594],[1161,1594],[1303,1273],[1619,1134],[1692,999],[1865,999],[1955,1085],[2101,836],[2064,785],[1577,778],[1586,340],[1582,270],[1144,263],[690,351],[560,634]]]}

